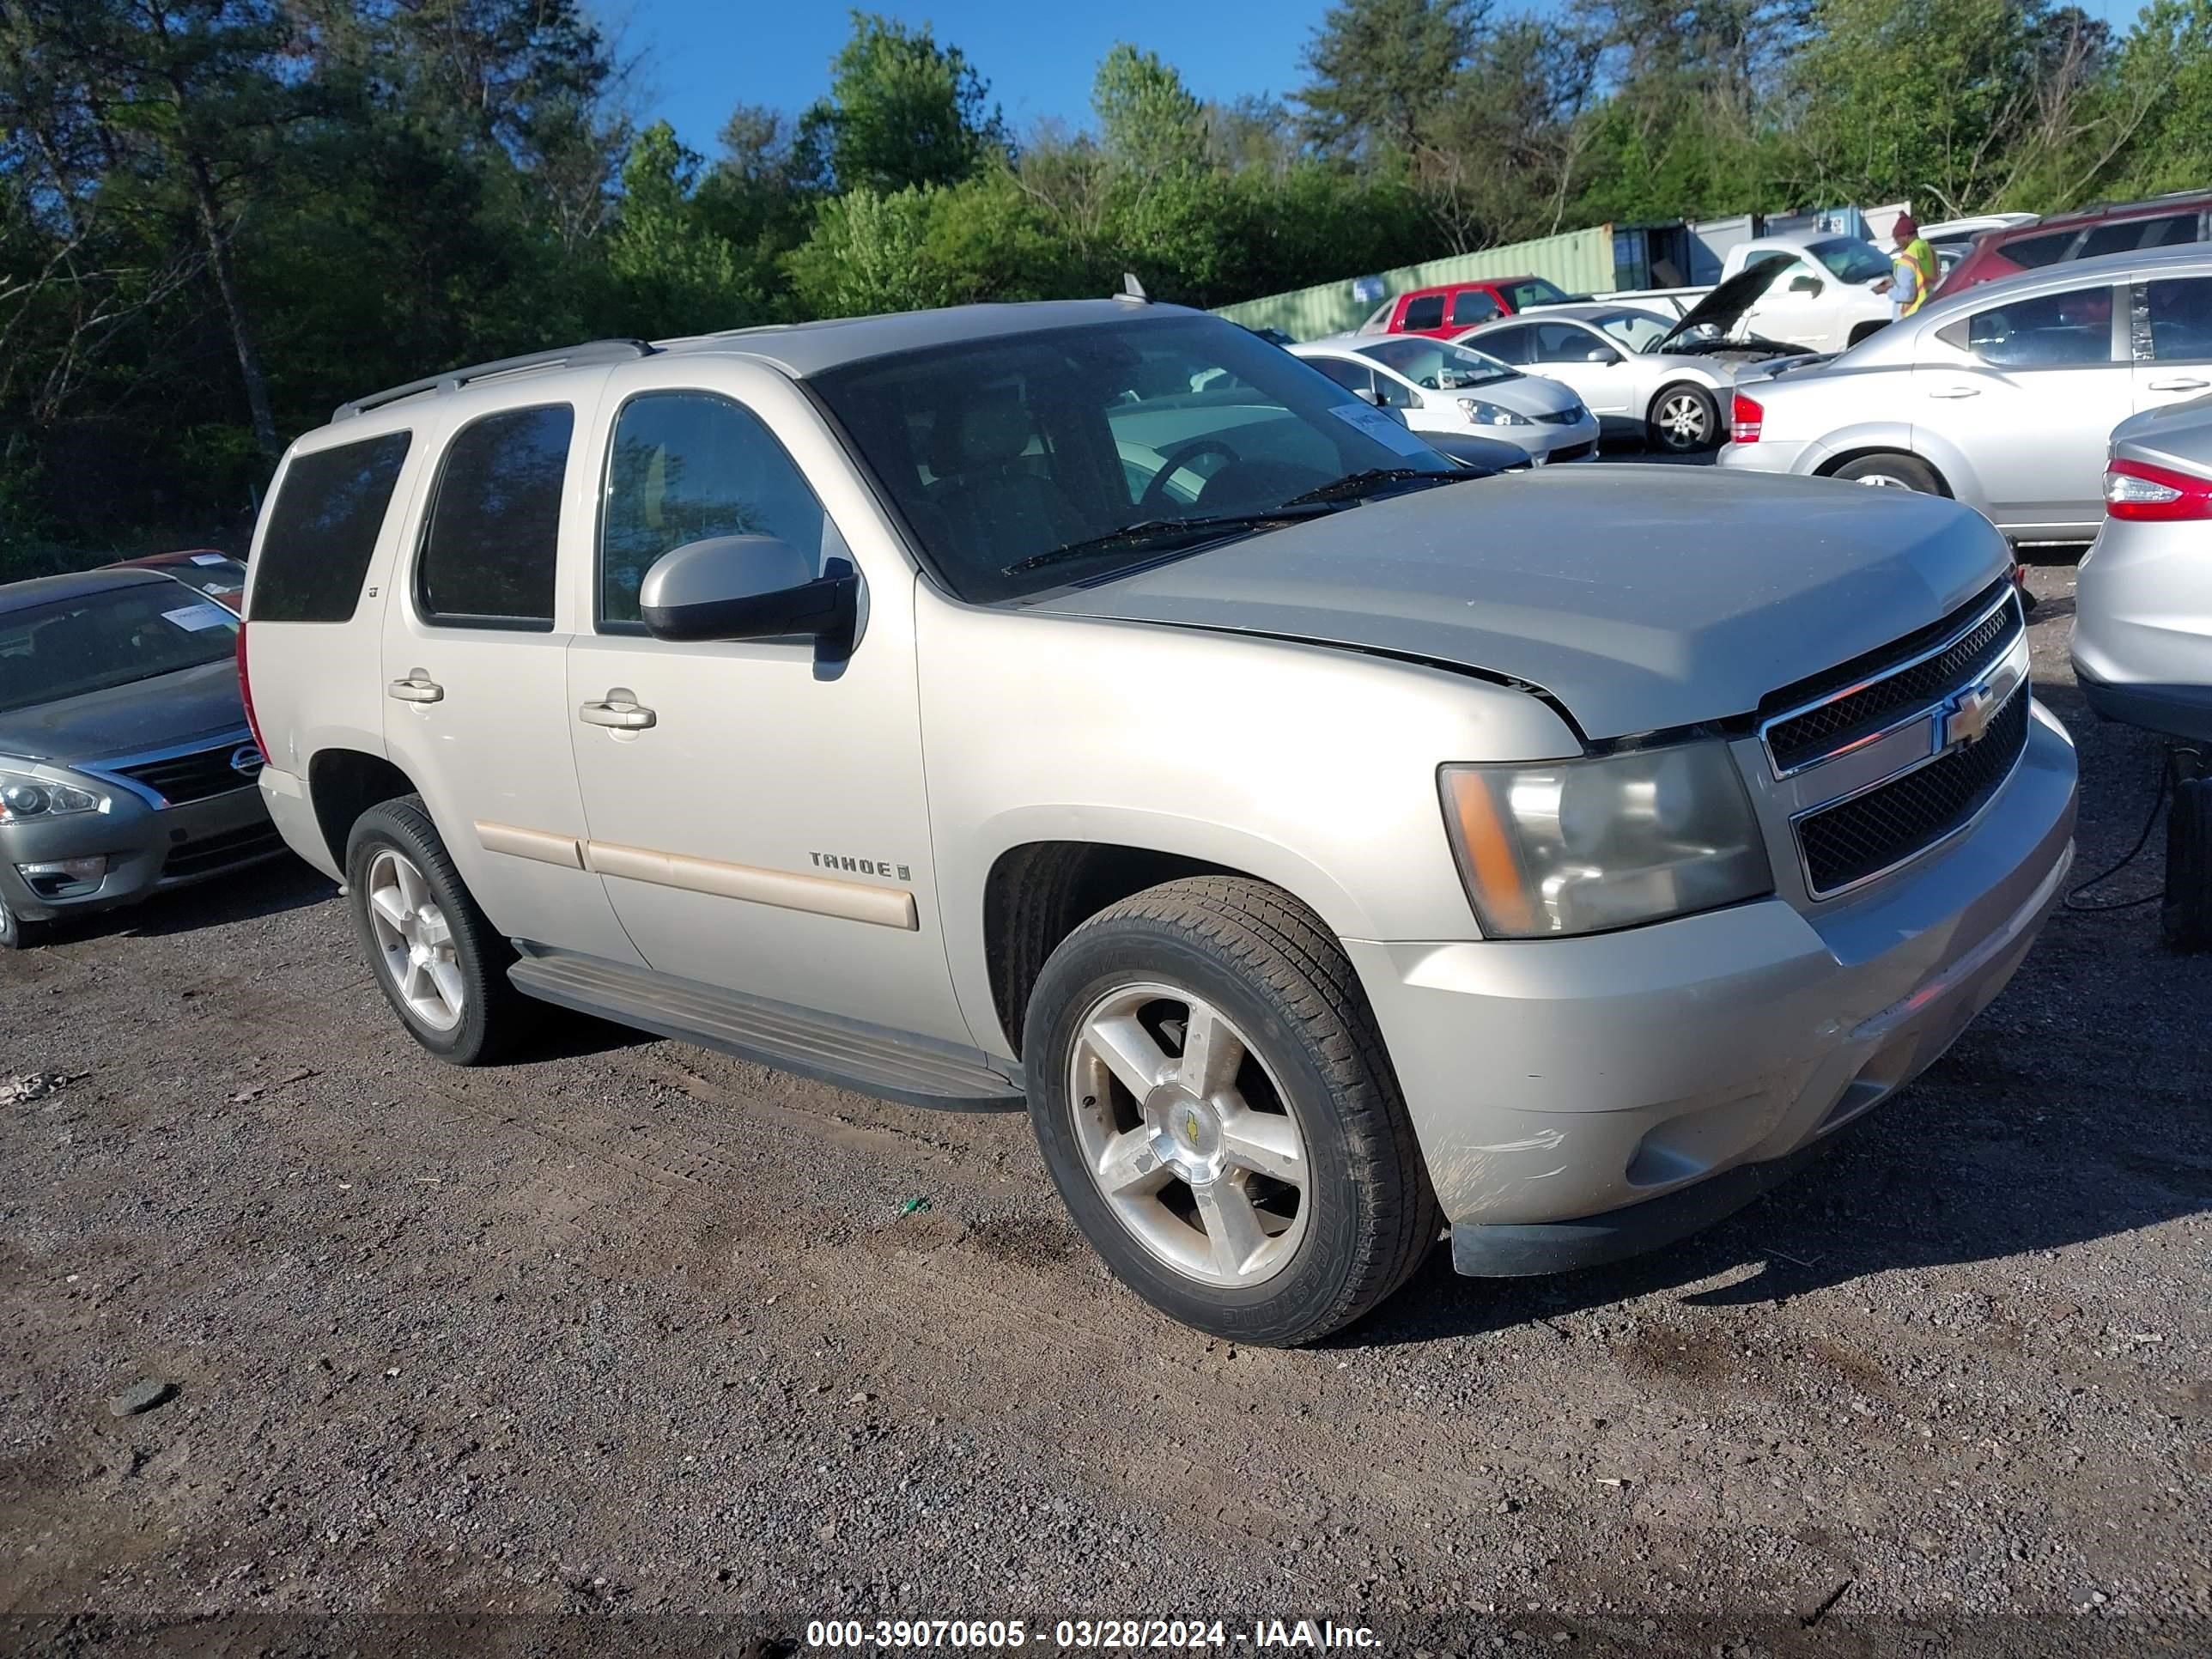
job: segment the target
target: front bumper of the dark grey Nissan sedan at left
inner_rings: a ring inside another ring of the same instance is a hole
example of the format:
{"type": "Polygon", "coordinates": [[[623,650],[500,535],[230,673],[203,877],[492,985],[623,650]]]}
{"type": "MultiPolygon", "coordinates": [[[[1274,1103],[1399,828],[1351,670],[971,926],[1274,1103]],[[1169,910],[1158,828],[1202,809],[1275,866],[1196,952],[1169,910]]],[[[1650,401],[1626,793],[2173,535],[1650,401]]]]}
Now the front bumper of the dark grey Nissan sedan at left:
{"type": "Polygon", "coordinates": [[[239,790],[155,807],[126,787],[102,783],[106,812],[24,818],[0,825],[0,898],[29,920],[115,909],[283,852],[276,827],[250,783],[239,790]],[[106,876],[88,891],[55,891],[27,880],[20,865],[106,858],[106,876]]]}

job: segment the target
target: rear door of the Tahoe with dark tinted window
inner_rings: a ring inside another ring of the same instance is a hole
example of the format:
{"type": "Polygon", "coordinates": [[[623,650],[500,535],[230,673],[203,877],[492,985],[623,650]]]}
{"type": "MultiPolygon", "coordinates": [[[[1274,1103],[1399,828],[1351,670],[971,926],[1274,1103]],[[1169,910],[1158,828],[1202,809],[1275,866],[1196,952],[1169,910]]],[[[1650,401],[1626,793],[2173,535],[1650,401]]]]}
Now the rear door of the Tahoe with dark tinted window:
{"type": "Polygon", "coordinates": [[[484,409],[440,434],[385,606],[385,748],[422,790],[476,902],[509,938],[637,962],[584,869],[568,752],[562,557],[586,557],[593,469],[568,400],[484,409]]]}

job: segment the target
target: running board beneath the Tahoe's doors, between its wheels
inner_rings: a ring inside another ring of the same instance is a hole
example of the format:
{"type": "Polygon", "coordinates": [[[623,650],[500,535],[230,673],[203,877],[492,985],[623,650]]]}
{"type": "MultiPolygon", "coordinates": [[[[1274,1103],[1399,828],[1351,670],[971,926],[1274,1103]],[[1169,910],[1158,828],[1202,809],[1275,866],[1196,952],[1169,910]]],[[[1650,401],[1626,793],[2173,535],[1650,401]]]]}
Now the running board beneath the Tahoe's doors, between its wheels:
{"type": "Polygon", "coordinates": [[[595,956],[522,945],[524,995],[905,1106],[1018,1113],[1020,1068],[978,1048],[838,1020],[595,956]]]}

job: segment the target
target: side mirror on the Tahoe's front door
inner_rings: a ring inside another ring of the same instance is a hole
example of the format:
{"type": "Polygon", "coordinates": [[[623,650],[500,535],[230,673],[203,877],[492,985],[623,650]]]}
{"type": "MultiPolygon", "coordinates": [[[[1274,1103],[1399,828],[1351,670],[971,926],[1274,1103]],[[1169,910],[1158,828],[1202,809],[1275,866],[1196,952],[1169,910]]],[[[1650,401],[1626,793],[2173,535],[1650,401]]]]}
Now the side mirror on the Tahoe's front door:
{"type": "Polygon", "coordinates": [[[814,560],[774,535],[714,535],[661,553],[637,591],[655,639],[814,639],[843,661],[860,615],[860,575],[814,560]]]}

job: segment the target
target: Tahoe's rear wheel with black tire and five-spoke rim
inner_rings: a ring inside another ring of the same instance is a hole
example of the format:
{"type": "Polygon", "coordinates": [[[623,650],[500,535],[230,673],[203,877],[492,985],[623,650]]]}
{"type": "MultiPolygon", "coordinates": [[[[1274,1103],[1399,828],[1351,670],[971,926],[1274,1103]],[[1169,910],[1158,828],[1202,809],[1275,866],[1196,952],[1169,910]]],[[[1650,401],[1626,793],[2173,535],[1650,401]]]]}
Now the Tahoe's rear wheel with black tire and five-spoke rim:
{"type": "Polygon", "coordinates": [[[515,1048],[535,1004],[507,980],[515,951],[469,896],[422,796],[380,801],[354,821],[345,891],[369,971],[416,1042],[456,1066],[482,1066],[515,1048]],[[418,891],[409,891],[407,872],[418,891]],[[411,947],[425,951],[422,973],[405,967],[411,947]]]}

